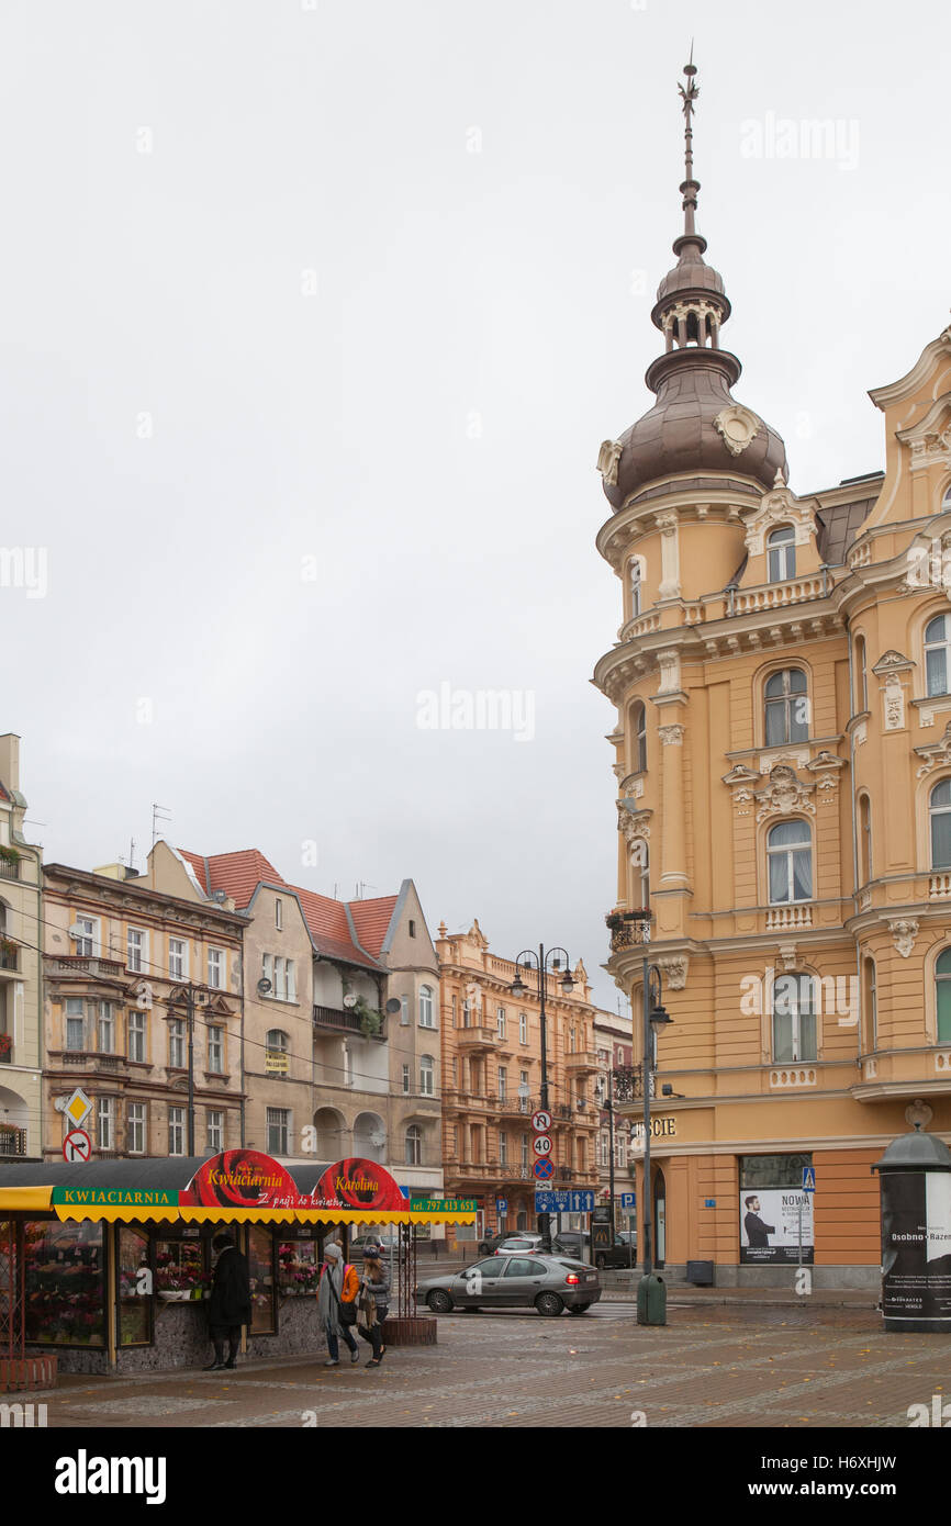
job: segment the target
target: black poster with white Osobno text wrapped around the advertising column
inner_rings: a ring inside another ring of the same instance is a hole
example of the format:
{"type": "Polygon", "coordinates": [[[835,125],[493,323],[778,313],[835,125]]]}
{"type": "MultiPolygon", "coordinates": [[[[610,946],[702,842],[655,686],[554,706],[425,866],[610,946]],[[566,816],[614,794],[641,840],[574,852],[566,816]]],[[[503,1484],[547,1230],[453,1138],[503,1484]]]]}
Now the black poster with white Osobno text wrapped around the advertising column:
{"type": "Polygon", "coordinates": [[[951,1173],[882,1172],[882,1314],[951,1320],[951,1173]]]}

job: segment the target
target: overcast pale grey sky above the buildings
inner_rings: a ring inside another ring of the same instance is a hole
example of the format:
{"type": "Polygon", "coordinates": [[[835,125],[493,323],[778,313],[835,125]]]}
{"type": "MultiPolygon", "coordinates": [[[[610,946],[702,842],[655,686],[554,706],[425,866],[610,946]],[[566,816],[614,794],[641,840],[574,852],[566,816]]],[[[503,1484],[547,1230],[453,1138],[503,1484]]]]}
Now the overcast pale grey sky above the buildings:
{"type": "Polygon", "coordinates": [[[736,397],[797,491],[876,470],[866,391],[951,302],[937,0],[8,0],[0,539],[47,591],[0,588],[0,729],[47,859],[142,864],[160,801],[614,1007],[595,458],[652,401],[691,35],[736,397]],[[421,729],[444,681],[533,737],[421,729]]]}

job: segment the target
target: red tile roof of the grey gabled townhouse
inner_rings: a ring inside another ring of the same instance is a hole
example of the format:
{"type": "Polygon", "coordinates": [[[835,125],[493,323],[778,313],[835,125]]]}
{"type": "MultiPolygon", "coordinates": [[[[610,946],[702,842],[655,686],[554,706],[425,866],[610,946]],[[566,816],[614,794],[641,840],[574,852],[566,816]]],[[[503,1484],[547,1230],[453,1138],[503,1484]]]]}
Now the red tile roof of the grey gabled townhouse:
{"type": "Polygon", "coordinates": [[[214,853],[211,858],[201,858],[200,853],[188,853],[185,848],[179,848],[179,853],[191,864],[195,879],[206,896],[211,896],[214,890],[223,890],[234,899],[238,908],[250,905],[252,896],[261,882],[282,885],[287,891],[299,897],[304,920],[321,954],[327,954],[330,958],[347,960],[351,964],[363,964],[366,969],[379,969],[380,946],[386,937],[392,908],[397,903],[395,896],[350,902],[357,928],[357,942],[354,943],[350,922],[347,920],[348,903],[345,900],[334,900],[331,896],[319,896],[314,890],[289,885],[258,848],[241,848],[238,853],[214,853]]]}

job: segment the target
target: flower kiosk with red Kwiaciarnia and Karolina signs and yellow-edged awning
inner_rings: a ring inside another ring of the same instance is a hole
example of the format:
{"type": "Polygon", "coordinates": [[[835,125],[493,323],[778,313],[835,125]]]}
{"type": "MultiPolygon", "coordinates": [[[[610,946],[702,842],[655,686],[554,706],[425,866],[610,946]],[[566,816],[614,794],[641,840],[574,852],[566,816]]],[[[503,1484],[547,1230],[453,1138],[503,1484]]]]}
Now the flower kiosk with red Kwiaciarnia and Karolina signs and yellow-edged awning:
{"type": "Polygon", "coordinates": [[[386,1224],[401,1227],[388,1343],[434,1340],[435,1322],[414,1308],[415,1224],[432,1221],[473,1222],[475,1204],[417,1209],[383,1166],[360,1158],[285,1166],[234,1149],[0,1164],[0,1392],[34,1386],[38,1363],[47,1381],[43,1358],[53,1354],[64,1372],[200,1366],[221,1230],[249,1260],[252,1357],[318,1352],[325,1239],[347,1244],[354,1227],[386,1224]]]}

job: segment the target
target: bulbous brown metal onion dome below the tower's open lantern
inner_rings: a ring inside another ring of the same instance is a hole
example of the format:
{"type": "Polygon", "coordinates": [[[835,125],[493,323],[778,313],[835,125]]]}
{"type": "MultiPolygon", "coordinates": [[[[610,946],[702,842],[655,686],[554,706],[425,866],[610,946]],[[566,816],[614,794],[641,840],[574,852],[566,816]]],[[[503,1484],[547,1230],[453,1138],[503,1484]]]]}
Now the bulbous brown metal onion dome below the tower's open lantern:
{"type": "Polygon", "coordinates": [[[728,349],[699,346],[672,349],[653,362],[647,385],[656,391],[656,403],[620,436],[617,482],[604,482],[615,510],[644,482],[684,472],[753,478],[763,488],[774,485],[777,470],[788,476],[786,447],[769,424],[760,421],[739,455],[733,455],[716,427],[724,409],[737,406],[730,388],[740,369],[728,349]]]}

